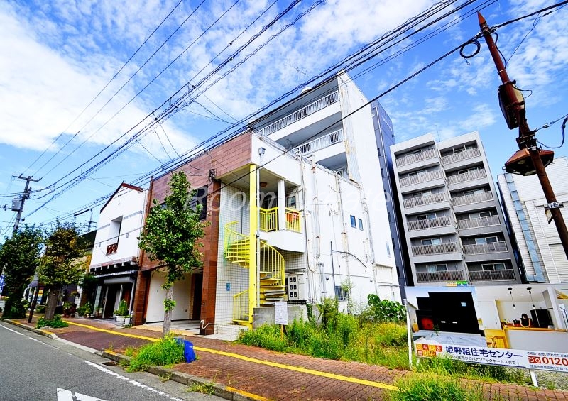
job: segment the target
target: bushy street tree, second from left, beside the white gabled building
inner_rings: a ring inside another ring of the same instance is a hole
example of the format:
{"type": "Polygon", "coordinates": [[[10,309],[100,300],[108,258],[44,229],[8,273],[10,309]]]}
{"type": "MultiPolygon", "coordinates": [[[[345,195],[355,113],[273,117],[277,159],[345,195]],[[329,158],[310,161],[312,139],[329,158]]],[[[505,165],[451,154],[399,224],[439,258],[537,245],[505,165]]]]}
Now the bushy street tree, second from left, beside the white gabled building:
{"type": "Polygon", "coordinates": [[[77,258],[84,255],[84,248],[75,224],[58,222],[55,229],[46,233],[45,254],[38,268],[40,282],[49,287],[46,320],[53,319],[61,287],[79,282],[82,278],[85,266],[84,263],[77,263],[77,258]]]}

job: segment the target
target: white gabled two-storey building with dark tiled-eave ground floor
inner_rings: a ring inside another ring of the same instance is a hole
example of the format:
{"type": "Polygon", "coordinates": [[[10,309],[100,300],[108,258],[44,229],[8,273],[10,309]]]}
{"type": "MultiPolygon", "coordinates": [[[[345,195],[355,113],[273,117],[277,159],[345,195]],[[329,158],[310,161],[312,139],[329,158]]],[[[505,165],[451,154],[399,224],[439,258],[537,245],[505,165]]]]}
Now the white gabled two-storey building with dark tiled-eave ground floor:
{"type": "Polygon", "coordinates": [[[90,272],[97,278],[93,313],[107,319],[121,300],[133,310],[148,190],[122,183],[101,209],[90,272]]]}

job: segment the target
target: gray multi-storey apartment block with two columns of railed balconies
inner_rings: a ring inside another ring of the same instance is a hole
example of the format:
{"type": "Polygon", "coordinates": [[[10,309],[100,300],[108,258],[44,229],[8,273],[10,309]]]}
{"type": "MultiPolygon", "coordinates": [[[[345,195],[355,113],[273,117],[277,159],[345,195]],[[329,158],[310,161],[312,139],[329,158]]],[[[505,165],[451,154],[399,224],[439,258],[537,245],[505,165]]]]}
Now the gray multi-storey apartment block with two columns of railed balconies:
{"type": "Polygon", "coordinates": [[[479,133],[391,146],[415,285],[521,282],[479,133]]]}

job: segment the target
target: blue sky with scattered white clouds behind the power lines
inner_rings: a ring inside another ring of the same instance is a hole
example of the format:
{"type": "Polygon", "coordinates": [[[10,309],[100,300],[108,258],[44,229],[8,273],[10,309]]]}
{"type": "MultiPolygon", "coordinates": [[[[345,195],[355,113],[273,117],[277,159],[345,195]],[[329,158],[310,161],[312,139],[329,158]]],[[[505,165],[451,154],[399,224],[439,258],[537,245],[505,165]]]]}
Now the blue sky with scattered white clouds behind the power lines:
{"type": "MultiPolygon", "coordinates": [[[[96,221],[101,206],[93,202],[121,182],[137,182],[435,4],[444,6],[437,16],[450,15],[421,23],[415,30],[422,31],[349,72],[368,99],[476,35],[477,9],[493,26],[555,1],[471,3],[458,10],[465,1],[301,1],[229,60],[292,3],[2,1],[0,207],[10,206],[13,194],[23,190],[25,182],[13,176],[31,175],[41,180],[31,184],[26,224],[53,223],[89,207],[96,221]],[[89,170],[148,126],[151,112],[163,110],[160,104],[209,72],[214,73],[192,89],[190,104],[144,131],[102,167],[89,170]]],[[[568,7],[559,8],[497,31],[509,76],[532,91],[524,92],[531,128],[568,114],[567,17],[568,7]]],[[[481,40],[475,57],[464,60],[453,53],[379,101],[393,120],[397,141],[479,131],[495,178],[517,150],[517,133],[508,130],[498,108],[499,83],[481,40]]],[[[540,130],[537,138],[559,145],[561,123],[540,130]]],[[[555,151],[567,155],[566,146],[555,151]]],[[[1,234],[11,233],[14,216],[0,209],[1,234]]],[[[77,223],[88,219],[87,212],[77,216],[77,223]]]]}

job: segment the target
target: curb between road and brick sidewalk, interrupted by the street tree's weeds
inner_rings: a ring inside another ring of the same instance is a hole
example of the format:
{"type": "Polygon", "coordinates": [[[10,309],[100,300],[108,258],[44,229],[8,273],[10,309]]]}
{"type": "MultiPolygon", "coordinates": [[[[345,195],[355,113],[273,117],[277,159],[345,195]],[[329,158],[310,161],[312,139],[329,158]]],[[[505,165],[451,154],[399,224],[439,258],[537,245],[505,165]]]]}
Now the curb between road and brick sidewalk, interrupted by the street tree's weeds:
{"type": "MultiPolygon", "coordinates": [[[[112,351],[102,351],[103,358],[110,359],[111,361],[121,363],[124,361],[130,361],[129,356],[121,355],[120,353],[112,352],[112,351]]],[[[190,375],[188,373],[178,372],[177,370],[163,368],[162,366],[149,366],[146,368],[146,372],[152,373],[153,375],[158,376],[170,376],[170,380],[173,380],[177,383],[181,383],[183,385],[207,385],[207,387],[212,388],[213,395],[217,395],[217,397],[222,397],[225,400],[230,401],[261,401],[261,400],[268,400],[266,397],[261,397],[259,395],[253,395],[248,392],[244,392],[238,390],[236,388],[230,388],[218,383],[214,383],[209,380],[205,380],[202,378],[198,378],[197,376],[190,375]]]]}

